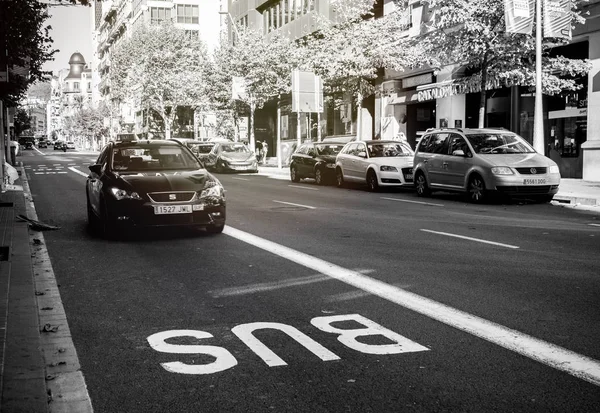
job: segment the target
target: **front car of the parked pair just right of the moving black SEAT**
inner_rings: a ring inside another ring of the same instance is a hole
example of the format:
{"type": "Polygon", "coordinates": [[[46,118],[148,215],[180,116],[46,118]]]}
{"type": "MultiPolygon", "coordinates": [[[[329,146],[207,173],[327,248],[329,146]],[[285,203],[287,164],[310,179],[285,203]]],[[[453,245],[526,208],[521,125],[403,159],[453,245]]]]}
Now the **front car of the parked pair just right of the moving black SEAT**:
{"type": "Polygon", "coordinates": [[[217,142],[205,165],[217,172],[258,172],[256,155],[241,142],[217,142]]]}

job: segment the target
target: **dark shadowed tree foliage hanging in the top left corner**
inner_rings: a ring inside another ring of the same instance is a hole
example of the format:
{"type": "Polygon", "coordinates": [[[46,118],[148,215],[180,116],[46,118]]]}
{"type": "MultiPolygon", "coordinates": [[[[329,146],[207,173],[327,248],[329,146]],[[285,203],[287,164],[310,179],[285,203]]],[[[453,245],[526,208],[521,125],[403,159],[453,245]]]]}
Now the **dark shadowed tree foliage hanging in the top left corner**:
{"type": "Polygon", "coordinates": [[[0,1],[0,50],[4,44],[9,68],[9,81],[0,83],[0,99],[8,106],[17,106],[30,84],[51,74],[42,70],[56,53],[51,27],[44,26],[48,17],[48,7],[38,0],[0,1]]]}

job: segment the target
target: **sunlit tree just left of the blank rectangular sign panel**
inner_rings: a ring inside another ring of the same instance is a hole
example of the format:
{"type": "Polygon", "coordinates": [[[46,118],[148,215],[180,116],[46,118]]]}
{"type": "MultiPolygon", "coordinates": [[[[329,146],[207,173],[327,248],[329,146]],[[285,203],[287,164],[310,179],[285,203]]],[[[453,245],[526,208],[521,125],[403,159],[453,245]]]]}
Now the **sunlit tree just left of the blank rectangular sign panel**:
{"type": "Polygon", "coordinates": [[[249,108],[249,143],[254,148],[254,113],[267,101],[291,93],[292,69],[298,66],[297,53],[293,41],[280,32],[265,36],[260,30],[242,26],[236,29],[234,42],[222,39],[215,51],[211,97],[220,104],[231,102],[233,78],[243,78],[245,91],[238,100],[249,108]]]}

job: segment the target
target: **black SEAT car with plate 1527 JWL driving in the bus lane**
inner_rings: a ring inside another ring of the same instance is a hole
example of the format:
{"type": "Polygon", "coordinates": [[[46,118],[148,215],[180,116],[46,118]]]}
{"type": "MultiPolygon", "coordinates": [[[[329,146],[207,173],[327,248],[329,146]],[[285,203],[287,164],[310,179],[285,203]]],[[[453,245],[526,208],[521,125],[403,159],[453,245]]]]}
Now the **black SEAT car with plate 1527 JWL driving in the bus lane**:
{"type": "Polygon", "coordinates": [[[110,142],[86,183],[89,227],[112,237],[128,228],[225,226],[225,190],[172,140],[110,142]]]}

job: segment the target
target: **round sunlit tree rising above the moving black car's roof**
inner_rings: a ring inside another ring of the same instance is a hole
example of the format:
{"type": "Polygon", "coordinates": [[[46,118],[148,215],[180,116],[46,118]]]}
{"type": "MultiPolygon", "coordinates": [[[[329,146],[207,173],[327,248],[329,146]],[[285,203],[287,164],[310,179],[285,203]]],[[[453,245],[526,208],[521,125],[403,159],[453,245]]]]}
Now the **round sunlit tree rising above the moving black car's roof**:
{"type": "Polygon", "coordinates": [[[171,130],[180,107],[203,107],[206,46],[173,23],[141,26],[117,47],[110,71],[113,98],[135,101],[158,115],[171,130]]]}

